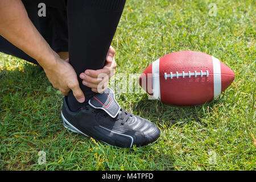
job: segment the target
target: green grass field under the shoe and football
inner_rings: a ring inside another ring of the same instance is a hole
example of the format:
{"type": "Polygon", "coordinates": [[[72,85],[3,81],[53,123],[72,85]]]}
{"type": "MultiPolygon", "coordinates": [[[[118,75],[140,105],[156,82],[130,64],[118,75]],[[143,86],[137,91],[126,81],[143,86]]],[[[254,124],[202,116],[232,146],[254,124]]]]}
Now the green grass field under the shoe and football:
{"type": "Polygon", "coordinates": [[[0,169],[255,170],[255,9],[253,0],[127,0],[112,43],[117,74],[141,73],[181,50],[213,55],[236,74],[221,96],[200,106],[169,106],[144,92],[117,94],[124,109],[162,132],[141,148],[116,148],[66,130],[63,96],[42,69],[0,53],[0,169]],[[38,164],[39,151],[46,164],[38,164]]]}

